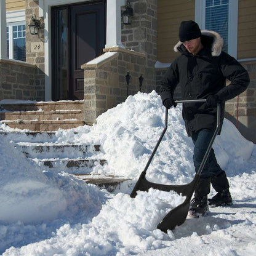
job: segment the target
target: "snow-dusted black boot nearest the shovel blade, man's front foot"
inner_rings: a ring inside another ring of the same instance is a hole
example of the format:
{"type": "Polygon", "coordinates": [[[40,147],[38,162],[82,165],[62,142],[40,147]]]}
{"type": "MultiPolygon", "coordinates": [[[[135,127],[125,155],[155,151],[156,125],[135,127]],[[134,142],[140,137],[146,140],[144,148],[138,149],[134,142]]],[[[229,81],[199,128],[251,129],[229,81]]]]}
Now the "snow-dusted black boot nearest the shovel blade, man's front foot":
{"type": "Polygon", "coordinates": [[[210,193],[210,178],[199,178],[194,190],[194,198],[190,204],[189,217],[199,217],[207,215],[209,210],[207,194],[210,193]]]}

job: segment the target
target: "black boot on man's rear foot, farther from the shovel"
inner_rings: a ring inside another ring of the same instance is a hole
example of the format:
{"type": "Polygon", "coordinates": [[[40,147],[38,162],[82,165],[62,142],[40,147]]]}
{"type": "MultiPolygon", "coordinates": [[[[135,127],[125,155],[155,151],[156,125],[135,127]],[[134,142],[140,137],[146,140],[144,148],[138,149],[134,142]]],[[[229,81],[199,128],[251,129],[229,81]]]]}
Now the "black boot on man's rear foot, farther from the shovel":
{"type": "Polygon", "coordinates": [[[231,206],[232,197],[230,194],[230,185],[226,173],[223,171],[220,175],[212,177],[212,186],[217,191],[213,198],[208,199],[210,206],[231,206]]]}

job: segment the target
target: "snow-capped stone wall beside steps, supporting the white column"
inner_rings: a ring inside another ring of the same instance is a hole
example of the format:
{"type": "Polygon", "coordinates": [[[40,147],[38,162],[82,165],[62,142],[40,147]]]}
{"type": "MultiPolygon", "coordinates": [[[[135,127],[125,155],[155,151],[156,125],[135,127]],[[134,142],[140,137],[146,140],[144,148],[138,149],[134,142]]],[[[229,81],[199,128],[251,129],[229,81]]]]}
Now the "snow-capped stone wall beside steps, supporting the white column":
{"type": "Polygon", "coordinates": [[[104,55],[81,67],[84,69],[85,122],[87,124],[94,123],[97,116],[124,102],[127,94],[137,94],[140,90],[138,78],[140,74],[145,74],[145,54],[119,47],[104,51],[106,52],[104,55]],[[127,71],[130,75],[128,87],[127,71]]]}

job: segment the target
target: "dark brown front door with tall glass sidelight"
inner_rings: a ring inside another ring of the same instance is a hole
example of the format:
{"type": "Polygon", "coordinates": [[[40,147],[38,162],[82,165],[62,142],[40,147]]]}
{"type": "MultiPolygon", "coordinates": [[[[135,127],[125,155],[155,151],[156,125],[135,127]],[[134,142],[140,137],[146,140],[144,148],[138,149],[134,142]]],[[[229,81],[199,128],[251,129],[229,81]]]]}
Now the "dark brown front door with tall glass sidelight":
{"type": "Polygon", "coordinates": [[[52,99],[84,99],[81,65],[105,46],[106,1],[52,8],[52,99]]]}

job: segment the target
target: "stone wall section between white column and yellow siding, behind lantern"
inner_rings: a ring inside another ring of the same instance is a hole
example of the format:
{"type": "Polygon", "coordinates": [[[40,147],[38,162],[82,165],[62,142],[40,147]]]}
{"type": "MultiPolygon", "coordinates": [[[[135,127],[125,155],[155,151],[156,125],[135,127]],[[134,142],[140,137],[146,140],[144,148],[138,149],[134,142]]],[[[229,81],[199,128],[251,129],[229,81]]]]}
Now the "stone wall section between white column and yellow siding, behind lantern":
{"type": "Polygon", "coordinates": [[[126,49],[142,52],[146,55],[144,90],[156,90],[154,63],[157,57],[157,0],[130,0],[134,9],[131,25],[122,25],[122,44],[126,49]]]}

